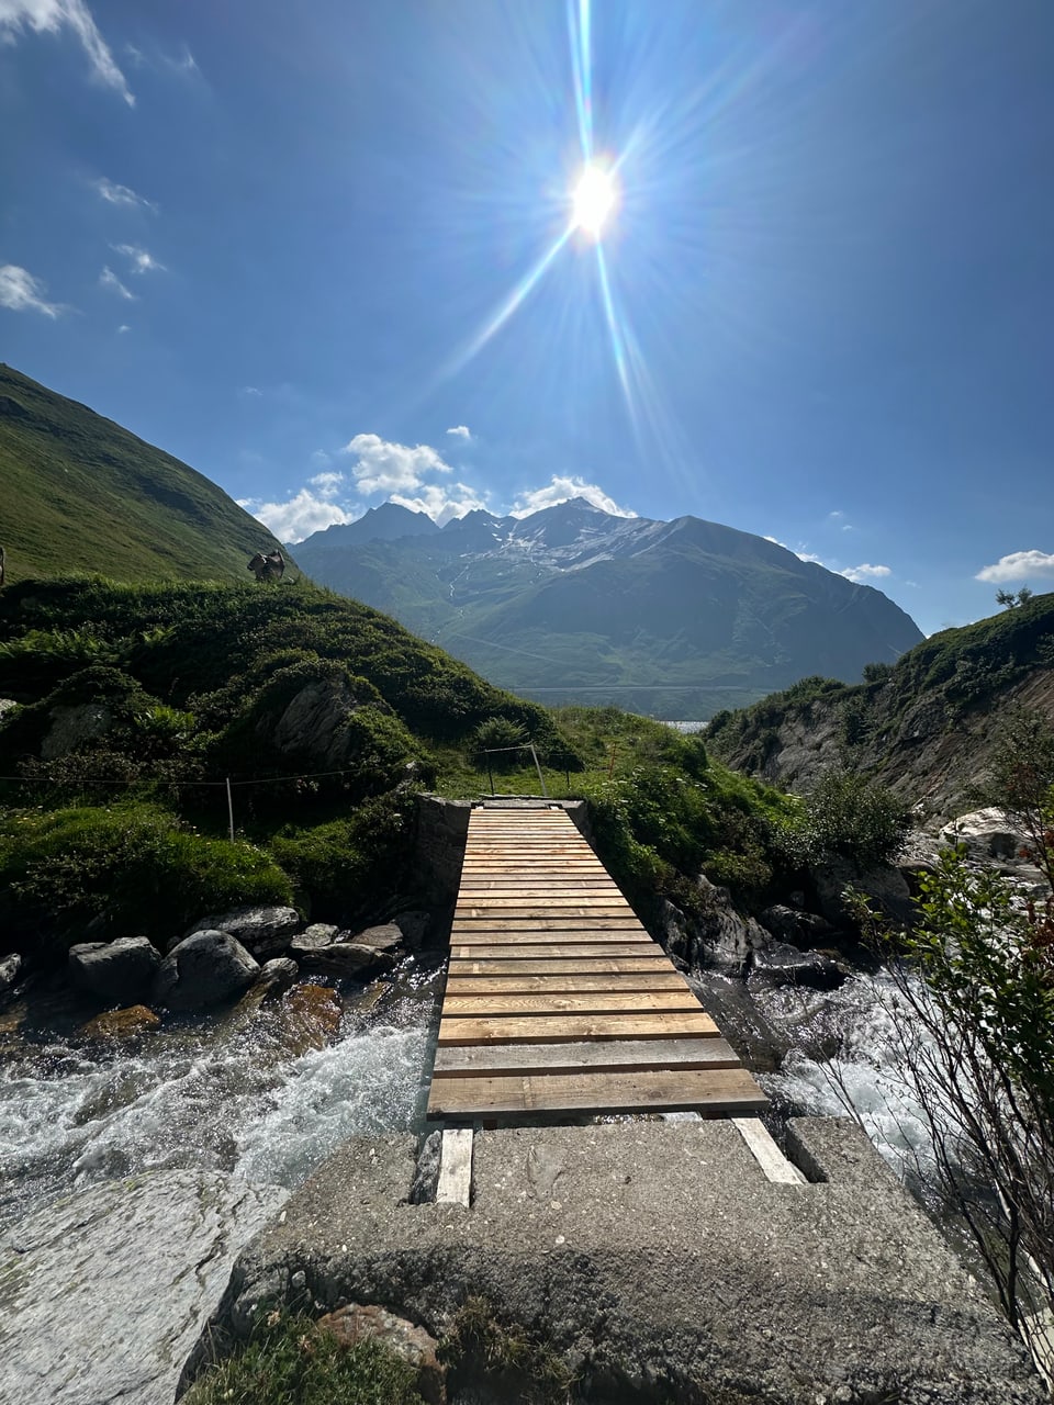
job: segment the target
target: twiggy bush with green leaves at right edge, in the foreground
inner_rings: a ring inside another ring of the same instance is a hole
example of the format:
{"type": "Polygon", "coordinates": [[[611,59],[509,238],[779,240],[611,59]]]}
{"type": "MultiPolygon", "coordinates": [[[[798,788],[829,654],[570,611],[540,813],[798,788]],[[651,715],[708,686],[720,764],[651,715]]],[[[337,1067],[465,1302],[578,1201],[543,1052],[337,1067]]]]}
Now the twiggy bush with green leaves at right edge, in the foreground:
{"type": "MultiPolygon", "coordinates": [[[[1054,792],[1051,792],[1054,799],[1054,792]]],[[[1054,804],[1037,858],[1054,878],[1054,804]]],[[[846,894],[888,961],[887,1013],[928,1127],[946,1207],[964,1221],[999,1302],[1054,1385],[1054,896],[944,851],[919,880],[913,930],[846,894]]]]}

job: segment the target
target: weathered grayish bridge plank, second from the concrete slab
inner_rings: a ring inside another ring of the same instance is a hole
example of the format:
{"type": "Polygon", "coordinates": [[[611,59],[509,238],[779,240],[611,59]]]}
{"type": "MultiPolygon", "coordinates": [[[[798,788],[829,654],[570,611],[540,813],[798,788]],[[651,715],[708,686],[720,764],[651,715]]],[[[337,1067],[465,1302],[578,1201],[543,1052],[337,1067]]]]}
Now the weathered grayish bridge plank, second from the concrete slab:
{"type": "Polygon", "coordinates": [[[448,1045],[436,1051],[433,1078],[479,1078],[490,1073],[576,1073],[583,1069],[739,1068],[722,1038],[600,1040],[594,1044],[448,1045]]]}

